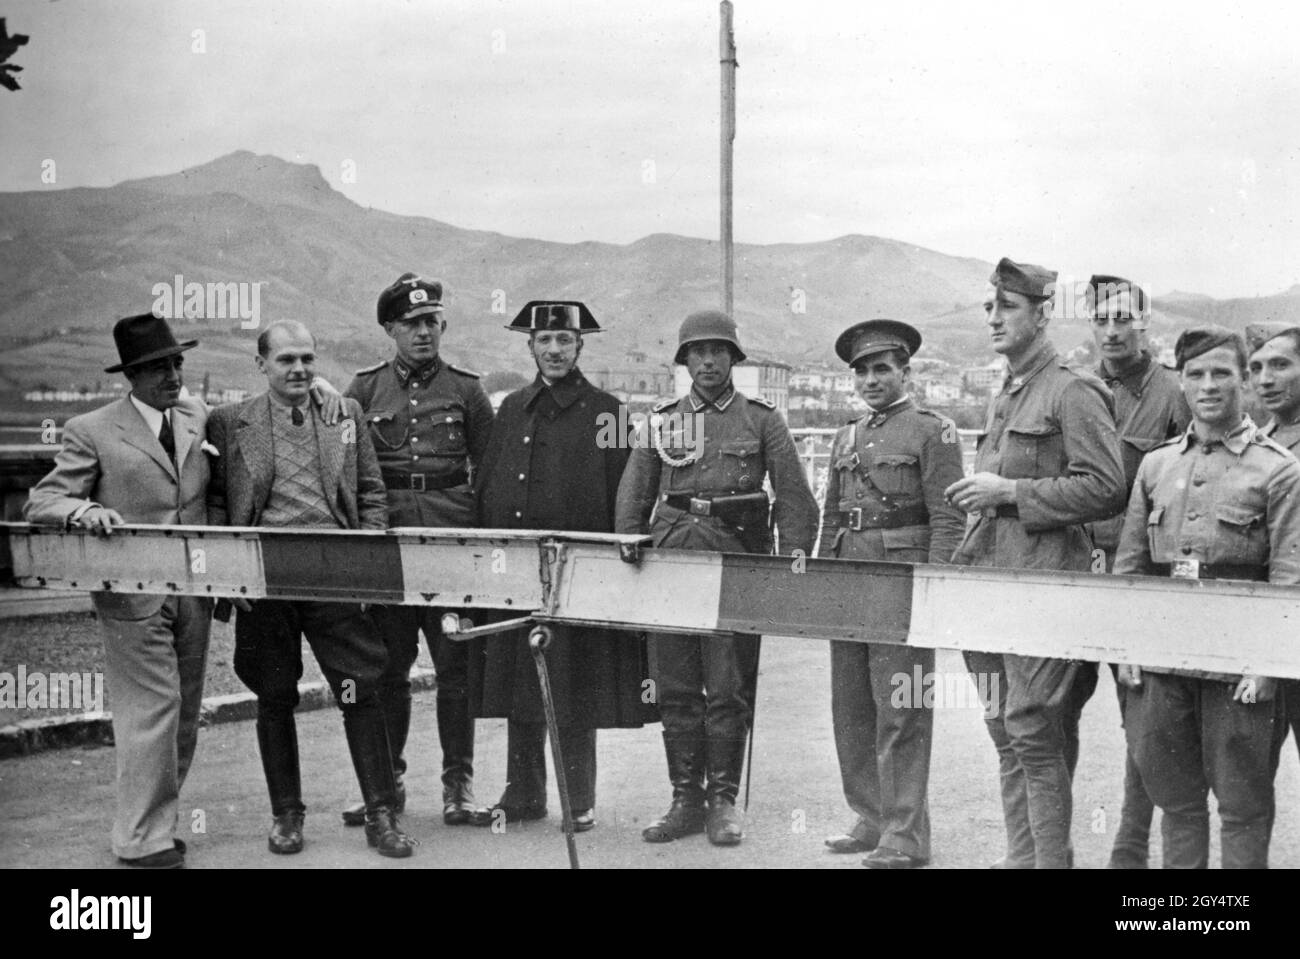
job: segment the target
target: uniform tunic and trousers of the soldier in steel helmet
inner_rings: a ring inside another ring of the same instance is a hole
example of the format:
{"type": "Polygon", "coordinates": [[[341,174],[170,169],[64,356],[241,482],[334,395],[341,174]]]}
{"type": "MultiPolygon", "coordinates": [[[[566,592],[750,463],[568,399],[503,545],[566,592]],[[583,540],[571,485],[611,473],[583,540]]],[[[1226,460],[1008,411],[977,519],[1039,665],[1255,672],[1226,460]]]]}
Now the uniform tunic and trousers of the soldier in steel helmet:
{"type": "MultiPolygon", "coordinates": [[[[766,477],[776,496],[781,551],[811,552],[816,500],[790,430],[770,403],[728,383],[715,400],[692,389],[654,413],[662,417],[659,425],[641,429],[619,485],[616,531],[649,531],[655,547],[771,552],[767,509],[723,518],[673,505],[680,496],[758,492],[766,477]],[[680,465],[664,463],[656,446],[680,465]]],[[[651,633],[649,652],[664,737],[744,750],[754,704],[755,637],[651,633]]],[[[729,798],[734,802],[734,791],[729,798]]]]}

